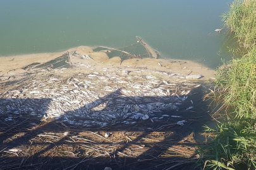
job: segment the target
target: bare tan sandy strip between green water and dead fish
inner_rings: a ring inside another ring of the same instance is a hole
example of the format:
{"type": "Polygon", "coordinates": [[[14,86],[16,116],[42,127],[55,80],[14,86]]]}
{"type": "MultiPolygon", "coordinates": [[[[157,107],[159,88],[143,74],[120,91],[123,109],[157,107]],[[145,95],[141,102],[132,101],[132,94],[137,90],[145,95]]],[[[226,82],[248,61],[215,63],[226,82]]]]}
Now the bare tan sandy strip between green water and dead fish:
{"type": "Polygon", "coordinates": [[[214,77],[215,71],[205,67],[202,64],[193,62],[191,60],[178,60],[178,59],[128,59],[121,62],[120,57],[113,57],[109,59],[104,52],[93,52],[92,48],[87,46],[80,46],[71,48],[63,52],[44,53],[44,54],[28,54],[28,55],[15,55],[9,57],[0,57],[0,76],[8,76],[27,72],[23,67],[33,63],[44,64],[57,57],[65,54],[66,52],[76,52],[76,55],[70,56],[70,62],[77,67],[89,65],[95,69],[102,67],[117,67],[127,66],[133,68],[147,68],[157,71],[173,71],[182,74],[200,74],[204,76],[203,79],[211,79],[214,77]],[[86,59],[85,56],[90,56],[86,59]]]}

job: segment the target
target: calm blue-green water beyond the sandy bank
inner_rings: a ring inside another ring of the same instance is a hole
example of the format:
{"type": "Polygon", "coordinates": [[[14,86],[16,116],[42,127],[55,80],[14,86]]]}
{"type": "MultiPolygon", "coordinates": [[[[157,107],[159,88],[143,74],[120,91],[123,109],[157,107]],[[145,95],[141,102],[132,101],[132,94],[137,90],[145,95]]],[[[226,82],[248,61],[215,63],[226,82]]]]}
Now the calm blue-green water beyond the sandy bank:
{"type": "Polygon", "coordinates": [[[136,42],[138,35],[162,57],[216,68],[221,59],[231,58],[226,35],[214,33],[230,1],[2,0],[0,56],[79,45],[119,48],[136,42]]]}

